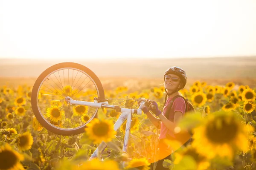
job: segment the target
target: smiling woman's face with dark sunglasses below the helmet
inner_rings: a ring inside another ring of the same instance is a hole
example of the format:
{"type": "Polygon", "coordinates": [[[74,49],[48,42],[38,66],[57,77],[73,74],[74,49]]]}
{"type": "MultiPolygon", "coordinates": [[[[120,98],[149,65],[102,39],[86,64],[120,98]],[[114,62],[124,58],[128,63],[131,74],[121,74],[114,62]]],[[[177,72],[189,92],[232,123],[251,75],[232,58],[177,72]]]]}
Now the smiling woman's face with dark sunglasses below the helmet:
{"type": "Polygon", "coordinates": [[[180,77],[175,74],[167,74],[165,75],[164,87],[168,91],[174,91],[180,85],[180,77]]]}

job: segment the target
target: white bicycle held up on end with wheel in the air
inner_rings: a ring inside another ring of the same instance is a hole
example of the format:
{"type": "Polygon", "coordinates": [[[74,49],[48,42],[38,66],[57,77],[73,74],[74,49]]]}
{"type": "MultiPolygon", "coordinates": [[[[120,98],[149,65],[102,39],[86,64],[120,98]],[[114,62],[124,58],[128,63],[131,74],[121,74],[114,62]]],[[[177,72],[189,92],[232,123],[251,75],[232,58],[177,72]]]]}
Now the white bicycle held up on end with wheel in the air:
{"type": "MultiPolygon", "coordinates": [[[[84,65],[74,62],[58,63],[47,68],[35,81],[31,95],[32,110],[38,122],[52,133],[63,136],[83,133],[86,125],[97,117],[99,108],[110,108],[121,112],[114,124],[114,130],[117,130],[127,119],[123,151],[126,151],[128,147],[132,114],[141,114],[144,105],[151,106],[151,103],[145,99],[137,100],[141,100],[138,109],[108,105],[102,83],[96,74],[84,65]],[[76,77],[79,79],[76,80],[76,77]],[[89,82],[92,82],[91,85],[88,85],[87,77],[89,82]],[[84,83],[85,80],[87,83],[84,83]],[[86,122],[84,121],[85,115],[87,116],[86,122]]],[[[90,159],[97,157],[98,152],[103,152],[106,147],[105,142],[99,144],[90,159]]]]}

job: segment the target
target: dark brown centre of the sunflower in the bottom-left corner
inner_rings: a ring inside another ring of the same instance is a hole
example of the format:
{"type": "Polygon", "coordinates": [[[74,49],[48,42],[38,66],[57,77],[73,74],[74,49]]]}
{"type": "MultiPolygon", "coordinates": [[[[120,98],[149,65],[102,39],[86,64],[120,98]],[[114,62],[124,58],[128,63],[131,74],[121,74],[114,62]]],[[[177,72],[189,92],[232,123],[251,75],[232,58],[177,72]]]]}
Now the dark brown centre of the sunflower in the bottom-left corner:
{"type": "Polygon", "coordinates": [[[11,150],[3,150],[0,152],[0,169],[7,170],[17,164],[18,158],[11,150]]]}

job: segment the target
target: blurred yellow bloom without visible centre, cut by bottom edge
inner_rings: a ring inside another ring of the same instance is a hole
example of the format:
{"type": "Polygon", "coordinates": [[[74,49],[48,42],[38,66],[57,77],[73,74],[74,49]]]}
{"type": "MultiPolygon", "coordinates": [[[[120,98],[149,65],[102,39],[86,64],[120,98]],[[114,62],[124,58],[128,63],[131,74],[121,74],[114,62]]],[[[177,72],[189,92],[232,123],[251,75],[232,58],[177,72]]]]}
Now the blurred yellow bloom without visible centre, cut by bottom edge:
{"type": "Polygon", "coordinates": [[[92,159],[90,161],[85,161],[79,167],[79,170],[119,170],[119,166],[116,161],[99,159],[92,159]]]}

